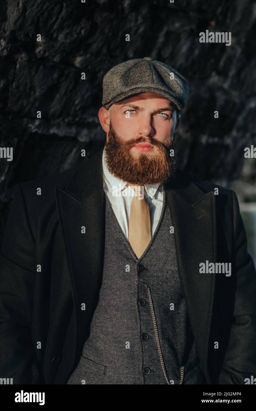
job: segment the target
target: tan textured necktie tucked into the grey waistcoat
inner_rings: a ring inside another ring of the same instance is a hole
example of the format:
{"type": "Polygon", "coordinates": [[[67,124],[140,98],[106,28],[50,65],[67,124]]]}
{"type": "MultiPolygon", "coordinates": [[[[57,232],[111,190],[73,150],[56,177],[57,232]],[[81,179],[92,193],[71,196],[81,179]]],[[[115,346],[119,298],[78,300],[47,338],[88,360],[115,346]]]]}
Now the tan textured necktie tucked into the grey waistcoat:
{"type": "MultiPolygon", "coordinates": [[[[130,185],[130,184],[129,184],[130,185]]],[[[138,186],[130,185],[138,194],[138,186]]],[[[141,194],[141,193],[140,193],[141,194]]],[[[129,243],[138,259],[151,240],[150,212],[147,201],[134,195],[129,217],[129,243]]]]}

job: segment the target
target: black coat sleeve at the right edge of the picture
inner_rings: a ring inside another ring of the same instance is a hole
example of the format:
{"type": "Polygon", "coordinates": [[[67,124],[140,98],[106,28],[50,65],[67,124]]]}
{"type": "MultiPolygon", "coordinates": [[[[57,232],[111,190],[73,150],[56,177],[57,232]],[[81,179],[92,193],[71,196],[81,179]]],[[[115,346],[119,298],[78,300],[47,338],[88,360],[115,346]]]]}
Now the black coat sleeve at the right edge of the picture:
{"type": "Polygon", "coordinates": [[[247,238],[233,190],[234,247],[231,272],[235,275],[234,308],[228,349],[219,384],[244,384],[256,376],[256,271],[247,252],[247,238]]]}

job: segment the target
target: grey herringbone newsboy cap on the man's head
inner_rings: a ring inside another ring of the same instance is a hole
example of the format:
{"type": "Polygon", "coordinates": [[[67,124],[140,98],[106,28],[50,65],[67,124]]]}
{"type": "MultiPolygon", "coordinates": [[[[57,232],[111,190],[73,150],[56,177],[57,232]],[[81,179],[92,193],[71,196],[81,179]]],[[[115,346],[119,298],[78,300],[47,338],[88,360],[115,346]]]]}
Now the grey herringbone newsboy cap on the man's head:
{"type": "Polygon", "coordinates": [[[150,57],[134,58],[118,64],[105,74],[102,105],[108,110],[113,103],[146,91],[166,97],[179,110],[183,110],[189,85],[185,77],[161,61],[150,57]]]}

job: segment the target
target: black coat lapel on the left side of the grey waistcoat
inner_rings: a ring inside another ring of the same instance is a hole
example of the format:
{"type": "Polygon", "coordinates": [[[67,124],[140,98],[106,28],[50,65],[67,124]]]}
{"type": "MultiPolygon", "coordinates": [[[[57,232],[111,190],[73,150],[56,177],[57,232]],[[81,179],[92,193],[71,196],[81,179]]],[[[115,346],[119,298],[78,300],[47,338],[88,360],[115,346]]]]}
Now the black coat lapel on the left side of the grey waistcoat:
{"type": "Polygon", "coordinates": [[[76,355],[81,354],[89,333],[103,272],[105,204],[102,152],[97,152],[77,169],[66,189],[56,189],[72,294],[76,301],[76,355]],[[82,226],[85,233],[81,233],[82,226]]]}

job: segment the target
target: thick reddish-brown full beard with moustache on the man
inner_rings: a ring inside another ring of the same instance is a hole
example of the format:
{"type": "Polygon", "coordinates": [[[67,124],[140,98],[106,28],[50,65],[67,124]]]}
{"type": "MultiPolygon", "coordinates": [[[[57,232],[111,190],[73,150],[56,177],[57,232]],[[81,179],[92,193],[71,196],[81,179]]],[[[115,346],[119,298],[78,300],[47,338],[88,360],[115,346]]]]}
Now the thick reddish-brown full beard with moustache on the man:
{"type": "Polygon", "coordinates": [[[154,153],[141,152],[138,159],[134,159],[130,149],[143,143],[143,137],[121,141],[110,122],[108,139],[105,143],[106,166],[119,180],[136,185],[150,185],[161,184],[175,175],[177,158],[175,155],[170,156],[170,150],[174,150],[175,134],[170,136],[166,144],[149,136],[148,142],[156,146],[157,150],[154,153]]]}

